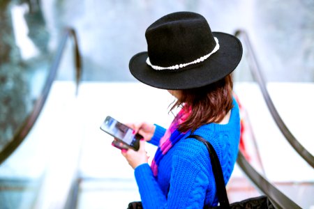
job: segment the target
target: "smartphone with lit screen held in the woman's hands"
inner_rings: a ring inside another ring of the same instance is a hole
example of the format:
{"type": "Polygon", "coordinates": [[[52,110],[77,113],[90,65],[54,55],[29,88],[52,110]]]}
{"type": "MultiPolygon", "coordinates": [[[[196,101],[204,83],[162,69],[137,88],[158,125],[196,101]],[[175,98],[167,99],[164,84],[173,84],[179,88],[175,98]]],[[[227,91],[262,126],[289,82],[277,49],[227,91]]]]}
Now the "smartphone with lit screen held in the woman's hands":
{"type": "Polygon", "coordinates": [[[100,129],[126,144],[128,148],[133,148],[136,151],[140,148],[140,139],[143,137],[140,134],[134,134],[133,129],[110,116],[105,118],[100,129]]]}

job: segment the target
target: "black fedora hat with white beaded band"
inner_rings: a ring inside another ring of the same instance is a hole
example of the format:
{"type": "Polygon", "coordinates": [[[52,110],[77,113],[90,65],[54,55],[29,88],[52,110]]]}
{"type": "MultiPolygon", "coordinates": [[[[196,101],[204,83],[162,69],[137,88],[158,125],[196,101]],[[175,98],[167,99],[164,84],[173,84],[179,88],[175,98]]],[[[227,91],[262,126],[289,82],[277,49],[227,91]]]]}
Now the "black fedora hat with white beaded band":
{"type": "Polygon", "coordinates": [[[211,32],[197,13],[165,15],[147,28],[145,36],[147,52],[135,54],[129,68],[140,82],[156,88],[206,86],[229,75],[242,57],[238,38],[211,32]]]}

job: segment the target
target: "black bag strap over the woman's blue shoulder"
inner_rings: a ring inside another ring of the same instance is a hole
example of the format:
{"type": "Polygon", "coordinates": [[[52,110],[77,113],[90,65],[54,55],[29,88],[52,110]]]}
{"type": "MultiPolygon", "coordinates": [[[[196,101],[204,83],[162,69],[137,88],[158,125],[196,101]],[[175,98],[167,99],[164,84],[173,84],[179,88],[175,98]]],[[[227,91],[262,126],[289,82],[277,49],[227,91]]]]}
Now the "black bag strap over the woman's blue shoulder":
{"type": "Polygon", "coordinates": [[[230,204],[227,197],[227,191],[225,190],[225,180],[223,180],[223,171],[220,166],[220,162],[217,156],[217,153],[214,149],[214,147],[209,143],[209,141],[206,141],[202,137],[198,135],[191,134],[187,138],[193,138],[197,139],[198,141],[201,141],[206,147],[209,152],[209,157],[211,158],[211,167],[214,172],[214,178],[216,183],[216,191],[218,196],[218,201],[220,203],[221,208],[230,208],[230,204]]]}

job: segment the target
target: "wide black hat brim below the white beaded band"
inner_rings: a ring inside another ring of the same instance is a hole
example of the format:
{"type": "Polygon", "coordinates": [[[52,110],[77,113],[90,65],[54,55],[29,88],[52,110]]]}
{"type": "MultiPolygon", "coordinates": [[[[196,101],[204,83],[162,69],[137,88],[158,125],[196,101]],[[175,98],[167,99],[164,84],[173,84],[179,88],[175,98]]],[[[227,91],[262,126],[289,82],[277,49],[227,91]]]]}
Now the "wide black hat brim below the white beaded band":
{"type": "Polygon", "coordinates": [[[154,70],[146,63],[147,52],[140,52],[130,59],[130,72],[144,84],[168,90],[198,88],[217,82],[237,68],[243,49],[240,40],[231,34],[213,32],[213,35],[218,38],[220,48],[205,61],[175,72],[154,70]]]}

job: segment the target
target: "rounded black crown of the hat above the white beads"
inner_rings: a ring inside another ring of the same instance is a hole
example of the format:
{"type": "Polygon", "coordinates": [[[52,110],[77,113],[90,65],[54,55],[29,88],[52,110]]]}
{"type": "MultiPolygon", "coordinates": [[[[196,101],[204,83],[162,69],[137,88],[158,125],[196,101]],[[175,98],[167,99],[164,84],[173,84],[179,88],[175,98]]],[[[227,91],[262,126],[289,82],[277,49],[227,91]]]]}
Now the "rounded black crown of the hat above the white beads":
{"type": "Polygon", "coordinates": [[[145,36],[151,63],[163,67],[194,61],[216,46],[207,20],[190,12],[165,15],[147,28],[145,36]]]}

